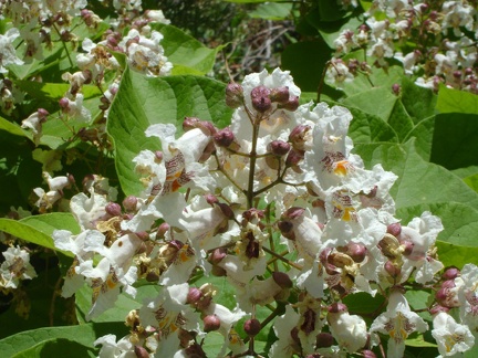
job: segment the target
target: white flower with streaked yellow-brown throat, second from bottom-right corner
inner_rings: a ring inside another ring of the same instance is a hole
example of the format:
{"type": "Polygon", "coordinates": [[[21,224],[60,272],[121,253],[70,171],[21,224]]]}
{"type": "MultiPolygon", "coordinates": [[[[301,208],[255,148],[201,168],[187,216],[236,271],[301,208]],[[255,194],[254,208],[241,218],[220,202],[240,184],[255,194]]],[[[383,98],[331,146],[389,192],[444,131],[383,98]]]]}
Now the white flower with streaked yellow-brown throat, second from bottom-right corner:
{"type": "Polygon", "coordinates": [[[388,298],[386,312],[381,314],[371,326],[371,331],[388,335],[387,357],[401,358],[405,351],[405,340],[414,331],[424,333],[428,325],[412,312],[405,296],[394,289],[388,298]]]}

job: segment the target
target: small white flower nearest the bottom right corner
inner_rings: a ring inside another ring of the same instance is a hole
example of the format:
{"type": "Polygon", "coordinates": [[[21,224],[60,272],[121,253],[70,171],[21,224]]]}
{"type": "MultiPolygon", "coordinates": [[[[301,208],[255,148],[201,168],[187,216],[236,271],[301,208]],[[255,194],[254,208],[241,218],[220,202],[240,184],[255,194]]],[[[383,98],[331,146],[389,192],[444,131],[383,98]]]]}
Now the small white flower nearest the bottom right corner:
{"type": "Polygon", "coordinates": [[[475,337],[465,325],[457,324],[447,313],[440,312],[434,317],[432,336],[438,344],[441,357],[454,356],[471,349],[475,337]]]}

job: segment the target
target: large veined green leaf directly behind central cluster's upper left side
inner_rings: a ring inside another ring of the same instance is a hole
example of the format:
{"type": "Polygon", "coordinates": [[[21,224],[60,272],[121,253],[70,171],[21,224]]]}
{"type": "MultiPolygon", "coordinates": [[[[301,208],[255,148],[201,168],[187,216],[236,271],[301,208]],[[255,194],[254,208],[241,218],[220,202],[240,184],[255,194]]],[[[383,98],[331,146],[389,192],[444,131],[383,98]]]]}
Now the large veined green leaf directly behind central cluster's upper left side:
{"type": "Polygon", "coordinates": [[[111,107],[107,130],[115,144],[116,169],[126,194],[138,194],[143,190],[134,172],[133,158],[143,149],[160,148],[157,138],[145,136],[146,128],[156,123],[180,127],[187,116],[225,127],[231,109],[226,106],[224,93],[225,84],[207,77],[147,78],[132,71],[124,73],[111,107]]]}

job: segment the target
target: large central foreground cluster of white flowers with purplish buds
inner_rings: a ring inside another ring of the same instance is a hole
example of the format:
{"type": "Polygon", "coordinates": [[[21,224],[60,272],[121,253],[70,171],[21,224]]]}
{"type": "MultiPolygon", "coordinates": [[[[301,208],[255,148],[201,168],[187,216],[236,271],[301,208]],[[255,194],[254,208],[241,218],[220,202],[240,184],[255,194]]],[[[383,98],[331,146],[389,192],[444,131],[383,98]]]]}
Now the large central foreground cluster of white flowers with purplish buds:
{"type": "Polygon", "coordinates": [[[224,337],[220,357],[257,355],[254,337],[271,320],[271,357],[373,357],[384,340],[389,357],[402,357],[408,336],[428,329],[406,298],[413,285],[437,289],[429,312],[440,354],[472,347],[478,267],[440,278],[440,220],[424,212],[401,223],[389,194],[396,176],[352,152],[351,113],[299,105],[299,96],[288,72],[248,75],[226,88],[230,126],[187,117],[178,137],[173,125],[147,128],[160,147],[134,159],[142,194],[118,204],[95,178],[72,198],[81,233],[53,234],[75,255],[63,296],[87,284],[94,318],[119,292],[135,295],[137,280],[162,287],[129,313],[129,335],[96,340],[101,357],[204,357],[211,331],[224,337]],[[197,275],[206,283],[194,285],[197,275]],[[235,289],[236,306],[217,302],[212,276],[235,289]],[[343,303],[356,293],[384,296],[386,310],[367,324],[343,303]],[[447,313],[456,307],[459,323],[447,313]]]}

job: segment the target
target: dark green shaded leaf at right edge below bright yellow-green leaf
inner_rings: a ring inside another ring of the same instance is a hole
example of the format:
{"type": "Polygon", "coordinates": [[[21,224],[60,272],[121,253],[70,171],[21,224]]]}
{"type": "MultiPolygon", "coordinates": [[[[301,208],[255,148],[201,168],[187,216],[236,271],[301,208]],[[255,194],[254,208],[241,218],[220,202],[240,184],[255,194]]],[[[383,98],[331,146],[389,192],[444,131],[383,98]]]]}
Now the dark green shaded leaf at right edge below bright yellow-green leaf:
{"type": "Polygon", "coordinates": [[[430,161],[447,169],[478,165],[478,115],[438,114],[430,161]]]}

